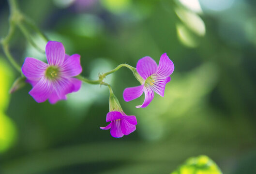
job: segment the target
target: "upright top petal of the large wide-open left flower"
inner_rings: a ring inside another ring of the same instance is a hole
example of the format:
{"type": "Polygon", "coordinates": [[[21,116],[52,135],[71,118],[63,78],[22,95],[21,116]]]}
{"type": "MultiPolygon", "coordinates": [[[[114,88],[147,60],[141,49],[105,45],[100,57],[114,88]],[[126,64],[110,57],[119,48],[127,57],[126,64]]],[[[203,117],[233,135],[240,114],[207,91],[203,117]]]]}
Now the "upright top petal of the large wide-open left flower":
{"type": "Polygon", "coordinates": [[[65,48],[60,42],[49,41],[45,47],[45,55],[49,65],[61,65],[65,59],[65,48]]]}

